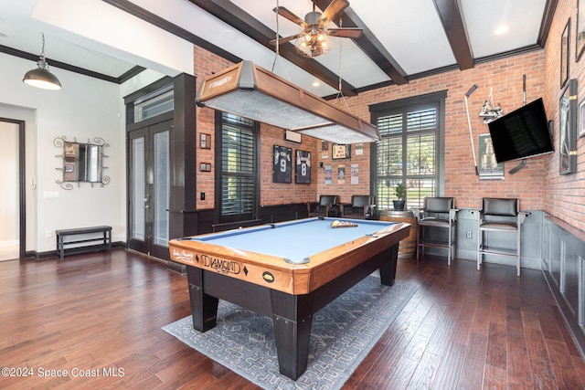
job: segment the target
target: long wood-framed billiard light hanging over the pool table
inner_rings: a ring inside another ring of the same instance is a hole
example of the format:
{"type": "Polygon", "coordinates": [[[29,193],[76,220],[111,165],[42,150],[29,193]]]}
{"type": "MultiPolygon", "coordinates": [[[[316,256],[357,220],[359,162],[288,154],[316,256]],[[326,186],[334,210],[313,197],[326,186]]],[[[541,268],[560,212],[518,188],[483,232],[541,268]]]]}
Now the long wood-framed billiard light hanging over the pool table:
{"type": "Polygon", "coordinates": [[[242,61],[203,79],[197,105],[335,143],[376,142],[378,127],[242,61]]]}

